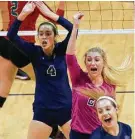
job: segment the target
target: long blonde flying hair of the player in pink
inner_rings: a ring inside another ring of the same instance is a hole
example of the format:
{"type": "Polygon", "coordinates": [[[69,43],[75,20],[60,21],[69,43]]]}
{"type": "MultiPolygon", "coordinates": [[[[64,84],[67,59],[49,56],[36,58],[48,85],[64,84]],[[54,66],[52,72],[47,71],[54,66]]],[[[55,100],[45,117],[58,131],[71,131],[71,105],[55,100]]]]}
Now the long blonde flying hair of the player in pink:
{"type": "Polygon", "coordinates": [[[120,81],[119,78],[116,78],[116,76],[121,75],[121,73],[127,71],[130,68],[129,65],[131,63],[131,56],[127,56],[125,61],[121,64],[120,67],[114,68],[108,64],[106,53],[100,47],[93,47],[85,53],[85,63],[86,63],[86,56],[89,52],[98,52],[102,56],[104,62],[102,76],[106,83],[117,86],[126,85],[126,82],[120,81]]]}

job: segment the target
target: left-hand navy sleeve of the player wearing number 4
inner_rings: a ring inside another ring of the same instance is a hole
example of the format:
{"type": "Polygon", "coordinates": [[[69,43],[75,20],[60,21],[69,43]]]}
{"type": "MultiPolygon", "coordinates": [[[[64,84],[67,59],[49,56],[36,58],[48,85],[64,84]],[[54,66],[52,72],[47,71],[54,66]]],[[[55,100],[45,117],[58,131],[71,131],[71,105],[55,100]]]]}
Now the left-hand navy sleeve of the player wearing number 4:
{"type": "Polygon", "coordinates": [[[15,19],[15,21],[9,28],[7,36],[13,43],[17,44],[20,50],[22,50],[27,55],[32,55],[36,49],[34,44],[24,41],[21,37],[17,35],[21,23],[21,21],[15,19]]]}

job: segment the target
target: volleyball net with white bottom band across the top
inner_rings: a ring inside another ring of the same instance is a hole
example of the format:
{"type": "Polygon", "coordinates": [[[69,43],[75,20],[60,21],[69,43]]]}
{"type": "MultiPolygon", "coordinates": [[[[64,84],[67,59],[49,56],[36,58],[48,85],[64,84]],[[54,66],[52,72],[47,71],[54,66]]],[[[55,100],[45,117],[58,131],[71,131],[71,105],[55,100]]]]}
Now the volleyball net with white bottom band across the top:
{"type": "MultiPolygon", "coordinates": [[[[59,1],[48,1],[46,4],[55,12],[59,1]]],[[[135,31],[133,1],[65,1],[65,18],[72,22],[72,17],[77,11],[84,13],[79,34],[132,34],[135,31]]],[[[36,27],[44,21],[46,19],[39,16],[36,27]]],[[[2,20],[0,22],[2,24],[2,20]]],[[[67,33],[60,26],[58,32],[67,33]]],[[[0,36],[6,34],[6,31],[0,31],[0,36]]],[[[20,36],[36,34],[36,30],[19,32],[20,36]]]]}

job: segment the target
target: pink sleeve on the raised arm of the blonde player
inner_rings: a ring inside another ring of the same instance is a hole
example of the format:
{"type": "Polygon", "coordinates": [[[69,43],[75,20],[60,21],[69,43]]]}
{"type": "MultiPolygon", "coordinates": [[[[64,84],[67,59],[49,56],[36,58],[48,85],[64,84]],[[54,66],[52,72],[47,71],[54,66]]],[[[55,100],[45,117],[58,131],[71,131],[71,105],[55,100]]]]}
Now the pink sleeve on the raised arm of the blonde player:
{"type": "Polygon", "coordinates": [[[81,73],[83,73],[80,68],[75,55],[66,54],[66,62],[69,70],[72,86],[76,86],[78,80],[80,80],[81,73]]]}

